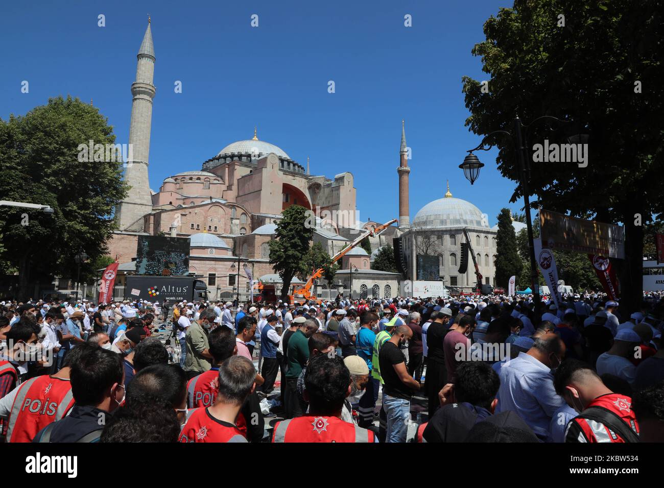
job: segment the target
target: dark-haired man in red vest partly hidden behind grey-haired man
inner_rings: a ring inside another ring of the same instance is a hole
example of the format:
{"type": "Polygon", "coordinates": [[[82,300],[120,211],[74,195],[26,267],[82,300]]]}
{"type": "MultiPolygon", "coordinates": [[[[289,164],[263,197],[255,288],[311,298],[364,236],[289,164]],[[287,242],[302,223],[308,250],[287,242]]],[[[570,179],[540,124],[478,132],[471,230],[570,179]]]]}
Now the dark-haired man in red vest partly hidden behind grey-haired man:
{"type": "MultiPolygon", "coordinates": [[[[236,355],[234,331],[228,327],[217,327],[208,335],[208,343],[212,360],[210,370],[194,376],[187,383],[187,407],[205,408],[212,406],[219,393],[218,376],[219,365],[229,357],[236,355]]],[[[262,384],[263,378],[256,374],[256,384],[262,384]]],[[[260,398],[252,392],[240,409],[236,425],[249,442],[260,442],[263,438],[265,420],[260,410],[260,398]],[[251,419],[252,422],[247,422],[251,419]]]]}

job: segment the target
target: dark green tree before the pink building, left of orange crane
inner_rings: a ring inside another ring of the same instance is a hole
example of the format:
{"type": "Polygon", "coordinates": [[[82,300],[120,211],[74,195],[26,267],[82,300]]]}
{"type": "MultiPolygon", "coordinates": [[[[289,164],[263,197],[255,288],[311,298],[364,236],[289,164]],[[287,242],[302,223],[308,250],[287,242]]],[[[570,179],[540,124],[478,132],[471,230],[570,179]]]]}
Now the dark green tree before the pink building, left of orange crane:
{"type": "Polygon", "coordinates": [[[313,228],[305,225],[307,209],[300,205],[291,205],[282,212],[282,219],[277,222],[277,238],[270,241],[270,264],[282,278],[281,299],[288,299],[293,276],[307,273],[304,256],[309,252],[309,242],[313,228]]]}

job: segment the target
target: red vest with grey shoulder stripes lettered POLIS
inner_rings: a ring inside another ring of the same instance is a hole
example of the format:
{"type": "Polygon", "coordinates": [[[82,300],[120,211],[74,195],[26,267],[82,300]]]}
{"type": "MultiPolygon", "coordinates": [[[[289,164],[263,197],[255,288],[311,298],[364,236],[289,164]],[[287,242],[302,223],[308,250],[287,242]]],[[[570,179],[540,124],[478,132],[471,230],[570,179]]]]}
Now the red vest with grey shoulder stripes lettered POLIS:
{"type": "Polygon", "coordinates": [[[64,418],[74,406],[69,380],[44,374],[23,382],[9,414],[9,442],[31,442],[37,432],[64,418]]]}

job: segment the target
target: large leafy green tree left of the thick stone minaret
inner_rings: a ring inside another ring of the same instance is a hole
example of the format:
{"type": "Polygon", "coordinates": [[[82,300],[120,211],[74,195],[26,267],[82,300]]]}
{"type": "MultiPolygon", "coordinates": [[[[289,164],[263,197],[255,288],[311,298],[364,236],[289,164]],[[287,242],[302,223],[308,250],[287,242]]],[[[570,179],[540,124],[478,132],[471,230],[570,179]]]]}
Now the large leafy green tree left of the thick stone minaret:
{"type": "MultiPolygon", "coordinates": [[[[113,211],[125,197],[122,161],[79,161],[80,144],[114,143],[113,127],[78,98],[50,98],[25,116],[0,119],[0,195],[48,205],[41,210],[0,207],[0,260],[19,270],[19,299],[44,276],[76,276],[74,256],[107,252],[116,228],[113,211]],[[27,216],[27,218],[26,218],[27,216]]],[[[90,262],[82,266],[90,271],[90,262]]]]}

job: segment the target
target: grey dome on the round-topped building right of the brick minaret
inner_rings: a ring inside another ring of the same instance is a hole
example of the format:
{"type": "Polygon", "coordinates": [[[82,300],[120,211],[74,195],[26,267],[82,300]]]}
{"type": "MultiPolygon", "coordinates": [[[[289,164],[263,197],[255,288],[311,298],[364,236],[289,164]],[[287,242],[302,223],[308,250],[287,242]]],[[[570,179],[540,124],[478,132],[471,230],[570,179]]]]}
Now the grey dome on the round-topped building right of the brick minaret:
{"type": "Polygon", "coordinates": [[[454,197],[434,200],[417,212],[410,226],[414,229],[440,227],[485,227],[488,223],[475,205],[454,197]]]}

